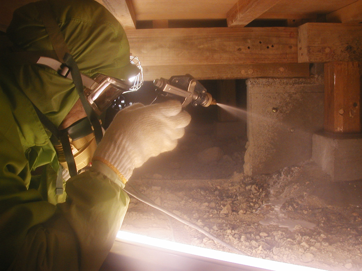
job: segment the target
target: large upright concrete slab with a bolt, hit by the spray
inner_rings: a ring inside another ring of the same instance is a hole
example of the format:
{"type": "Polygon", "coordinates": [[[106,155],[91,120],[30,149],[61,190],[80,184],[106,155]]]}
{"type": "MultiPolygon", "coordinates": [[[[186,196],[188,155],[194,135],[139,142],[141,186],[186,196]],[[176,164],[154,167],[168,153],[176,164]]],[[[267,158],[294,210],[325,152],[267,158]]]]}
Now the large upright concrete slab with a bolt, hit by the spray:
{"type": "Polygon", "coordinates": [[[323,78],[248,79],[244,173],[269,174],[312,157],[323,128],[323,78]]]}

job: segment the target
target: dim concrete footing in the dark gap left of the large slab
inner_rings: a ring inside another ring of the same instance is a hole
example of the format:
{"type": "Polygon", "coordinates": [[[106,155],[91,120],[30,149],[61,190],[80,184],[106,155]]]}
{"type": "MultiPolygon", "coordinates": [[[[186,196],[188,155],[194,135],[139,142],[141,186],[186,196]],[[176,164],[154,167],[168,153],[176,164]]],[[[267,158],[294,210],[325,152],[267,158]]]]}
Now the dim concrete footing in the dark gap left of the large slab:
{"type": "Polygon", "coordinates": [[[222,139],[246,137],[246,123],[243,121],[216,121],[215,135],[222,139]]]}

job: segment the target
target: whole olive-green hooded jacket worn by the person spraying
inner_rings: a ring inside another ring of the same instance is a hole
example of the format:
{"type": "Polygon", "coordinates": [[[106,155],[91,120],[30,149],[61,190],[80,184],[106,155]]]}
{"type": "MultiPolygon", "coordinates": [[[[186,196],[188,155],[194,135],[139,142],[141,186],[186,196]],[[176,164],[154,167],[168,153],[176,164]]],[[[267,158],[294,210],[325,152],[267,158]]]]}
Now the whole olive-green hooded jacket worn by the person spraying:
{"type": "MultiPolygon", "coordinates": [[[[134,73],[124,30],[102,5],[49,2],[82,73],[120,79],[134,73]]],[[[53,50],[35,4],[14,13],[6,36],[20,50],[53,50]]],[[[0,270],[98,270],[129,198],[106,168],[70,178],[66,199],[55,195],[58,161],[32,103],[58,126],[79,97],[71,80],[45,66],[16,63],[7,48],[2,43],[0,270]],[[41,175],[34,176],[39,167],[41,175]]]]}

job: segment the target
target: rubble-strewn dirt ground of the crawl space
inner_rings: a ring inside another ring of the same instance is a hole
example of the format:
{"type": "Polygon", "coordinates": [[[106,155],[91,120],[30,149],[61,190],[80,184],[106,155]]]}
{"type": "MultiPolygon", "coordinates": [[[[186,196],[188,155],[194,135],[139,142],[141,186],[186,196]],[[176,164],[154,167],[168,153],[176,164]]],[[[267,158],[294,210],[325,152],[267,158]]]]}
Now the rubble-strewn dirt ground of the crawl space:
{"type": "MultiPolygon", "coordinates": [[[[332,271],[362,270],[362,181],[332,183],[313,161],[243,174],[245,140],[189,128],[129,184],[244,253],[332,271]]],[[[122,230],[230,251],[131,197],[122,230]]]]}

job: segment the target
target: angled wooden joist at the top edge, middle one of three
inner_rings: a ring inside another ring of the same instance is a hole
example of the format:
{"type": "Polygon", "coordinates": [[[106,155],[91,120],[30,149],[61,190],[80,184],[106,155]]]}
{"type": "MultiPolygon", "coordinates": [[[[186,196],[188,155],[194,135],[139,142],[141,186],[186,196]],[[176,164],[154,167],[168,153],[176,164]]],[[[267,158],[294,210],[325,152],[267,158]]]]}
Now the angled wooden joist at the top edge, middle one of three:
{"type": "Polygon", "coordinates": [[[238,0],[226,15],[227,24],[229,27],[244,27],[278,2],[280,0],[238,0]]]}

